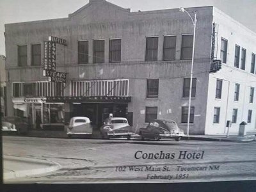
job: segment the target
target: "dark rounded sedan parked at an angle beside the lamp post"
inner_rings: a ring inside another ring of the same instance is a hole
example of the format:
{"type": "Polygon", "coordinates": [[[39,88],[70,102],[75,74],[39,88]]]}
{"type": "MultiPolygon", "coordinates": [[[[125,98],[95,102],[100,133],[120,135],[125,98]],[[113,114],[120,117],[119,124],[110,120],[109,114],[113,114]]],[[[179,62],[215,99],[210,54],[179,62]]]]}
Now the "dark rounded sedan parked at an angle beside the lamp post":
{"type": "Polygon", "coordinates": [[[184,131],[179,129],[173,120],[152,120],[146,128],[140,128],[141,139],[160,140],[161,138],[174,138],[179,141],[184,136],[184,131]]]}

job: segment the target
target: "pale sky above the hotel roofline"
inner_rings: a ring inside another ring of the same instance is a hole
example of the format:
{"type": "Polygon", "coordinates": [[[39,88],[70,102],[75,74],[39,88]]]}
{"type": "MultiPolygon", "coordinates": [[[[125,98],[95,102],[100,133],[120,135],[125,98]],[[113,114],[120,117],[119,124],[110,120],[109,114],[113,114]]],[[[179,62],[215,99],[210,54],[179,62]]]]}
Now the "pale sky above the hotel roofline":
{"type": "MultiPolygon", "coordinates": [[[[216,6],[256,33],[256,0],[107,0],[131,12],[216,6]]],[[[68,17],[89,0],[0,0],[0,55],[5,55],[4,24],[68,17]]]]}

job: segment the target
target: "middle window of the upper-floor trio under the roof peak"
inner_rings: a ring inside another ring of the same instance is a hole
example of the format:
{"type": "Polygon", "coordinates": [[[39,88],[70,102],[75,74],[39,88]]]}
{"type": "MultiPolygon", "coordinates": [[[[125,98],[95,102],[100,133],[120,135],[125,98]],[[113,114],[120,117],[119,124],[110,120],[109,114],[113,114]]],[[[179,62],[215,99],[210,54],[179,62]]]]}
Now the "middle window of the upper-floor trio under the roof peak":
{"type": "Polygon", "coordinates": [[[93,63],[104,63],[104,40],[93,41],[93,63]]]}

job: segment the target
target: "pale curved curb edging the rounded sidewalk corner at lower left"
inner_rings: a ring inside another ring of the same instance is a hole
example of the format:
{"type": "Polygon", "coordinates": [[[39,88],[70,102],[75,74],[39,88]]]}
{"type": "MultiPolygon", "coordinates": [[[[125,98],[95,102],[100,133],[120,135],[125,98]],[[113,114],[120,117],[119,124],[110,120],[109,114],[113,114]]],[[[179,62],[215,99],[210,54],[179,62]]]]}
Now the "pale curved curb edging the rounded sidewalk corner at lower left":
{"type": "Polygon", "coordinates": [[[3,171],[7,170],[8,172],[3,173],[3,180],[16,179],[18,177],[26,177],[31,175],[39,175],[48,172],[54,172],[61,168],[61,165],[55,162],[50,162],[43,159],[32,159],[27,157],[15,157],[15,156],[4,156],[4,160],[6,161],[17,161],[20,163],[30,163],[30,164],[44,164],[44,168],[35,168],[31,170],[10,170],[8,168],[3,167],[3,171]]]}

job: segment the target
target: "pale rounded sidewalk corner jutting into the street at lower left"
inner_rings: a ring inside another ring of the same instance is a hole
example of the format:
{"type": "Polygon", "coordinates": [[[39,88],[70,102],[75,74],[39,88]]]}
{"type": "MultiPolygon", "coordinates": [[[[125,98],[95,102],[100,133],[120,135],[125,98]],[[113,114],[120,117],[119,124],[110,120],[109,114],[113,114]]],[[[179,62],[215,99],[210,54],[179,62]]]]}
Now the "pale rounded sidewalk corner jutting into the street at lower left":
{"type": "Polygon", "coordinates": [[[60,164],[44,159],[3,156],[3,180],[54,172],[60,167],[60,164]]]}

